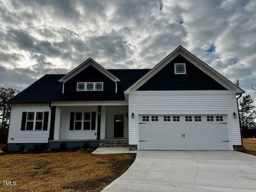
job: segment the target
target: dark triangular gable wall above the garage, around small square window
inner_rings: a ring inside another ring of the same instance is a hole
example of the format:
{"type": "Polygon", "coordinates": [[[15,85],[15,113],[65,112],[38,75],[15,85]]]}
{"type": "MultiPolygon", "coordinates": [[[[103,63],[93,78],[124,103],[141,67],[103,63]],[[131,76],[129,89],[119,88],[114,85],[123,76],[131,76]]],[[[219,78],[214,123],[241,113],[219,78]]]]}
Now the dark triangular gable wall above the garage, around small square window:
{"type": "Polygon", "coordinates": [[[227,90],[227,88],[179,55],[138,88],[138,91],[149,90],[227,90]],[[175,74],[175,63],[186,63],[186,74],[175,74]]]}

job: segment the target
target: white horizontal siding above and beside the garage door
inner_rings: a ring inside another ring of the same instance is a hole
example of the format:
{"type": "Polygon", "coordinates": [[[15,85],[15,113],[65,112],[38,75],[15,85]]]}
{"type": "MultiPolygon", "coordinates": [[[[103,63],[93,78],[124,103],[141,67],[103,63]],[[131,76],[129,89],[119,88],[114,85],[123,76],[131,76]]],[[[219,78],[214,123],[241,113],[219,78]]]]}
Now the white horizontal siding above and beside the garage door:
{"type": "Polygon", "coordinates": [[[227,115],[232,145],[241,145],[236,94],[230,91],[136,91],[129,95],[129,144],[138,145],[138,115],[227,115]],[[134,113],[134,118],[131,114],[134,113]]]}

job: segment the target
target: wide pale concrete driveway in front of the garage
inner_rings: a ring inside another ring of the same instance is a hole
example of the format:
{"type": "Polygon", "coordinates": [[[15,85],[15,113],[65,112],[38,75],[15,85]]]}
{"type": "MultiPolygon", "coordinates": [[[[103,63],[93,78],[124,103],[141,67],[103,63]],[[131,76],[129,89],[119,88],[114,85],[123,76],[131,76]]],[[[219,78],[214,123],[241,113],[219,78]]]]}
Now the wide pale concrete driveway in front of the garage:
{"type": "Polygon", "coordinates": [[[256,156],[227,150],[139,151],[103,191],[256,191],[256,156]]]}

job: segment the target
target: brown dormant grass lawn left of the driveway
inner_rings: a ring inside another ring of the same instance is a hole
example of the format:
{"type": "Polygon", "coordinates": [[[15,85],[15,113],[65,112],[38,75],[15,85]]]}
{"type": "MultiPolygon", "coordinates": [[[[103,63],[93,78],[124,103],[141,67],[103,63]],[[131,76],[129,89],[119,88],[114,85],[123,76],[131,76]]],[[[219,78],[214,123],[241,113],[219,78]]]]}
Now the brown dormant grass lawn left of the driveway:
{"type": "Polygon", "coordinates": [[[101,191],[131,166],[134,154],[90,152],[0,156],[0,191],[101,191]],[[3,186],[2,180],[16,181],[3,186]]]}

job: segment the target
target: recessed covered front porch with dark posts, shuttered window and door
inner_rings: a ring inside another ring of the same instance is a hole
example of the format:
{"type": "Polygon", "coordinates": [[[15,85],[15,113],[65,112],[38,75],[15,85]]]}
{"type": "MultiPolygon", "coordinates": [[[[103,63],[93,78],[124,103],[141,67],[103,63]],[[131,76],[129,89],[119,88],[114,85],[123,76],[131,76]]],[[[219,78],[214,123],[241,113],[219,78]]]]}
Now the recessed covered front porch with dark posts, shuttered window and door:
{"type": "Polygon", "coordinates": [[[49,143],[128,141],[128,106],[56,106],[52,132],[49,143]]]}

